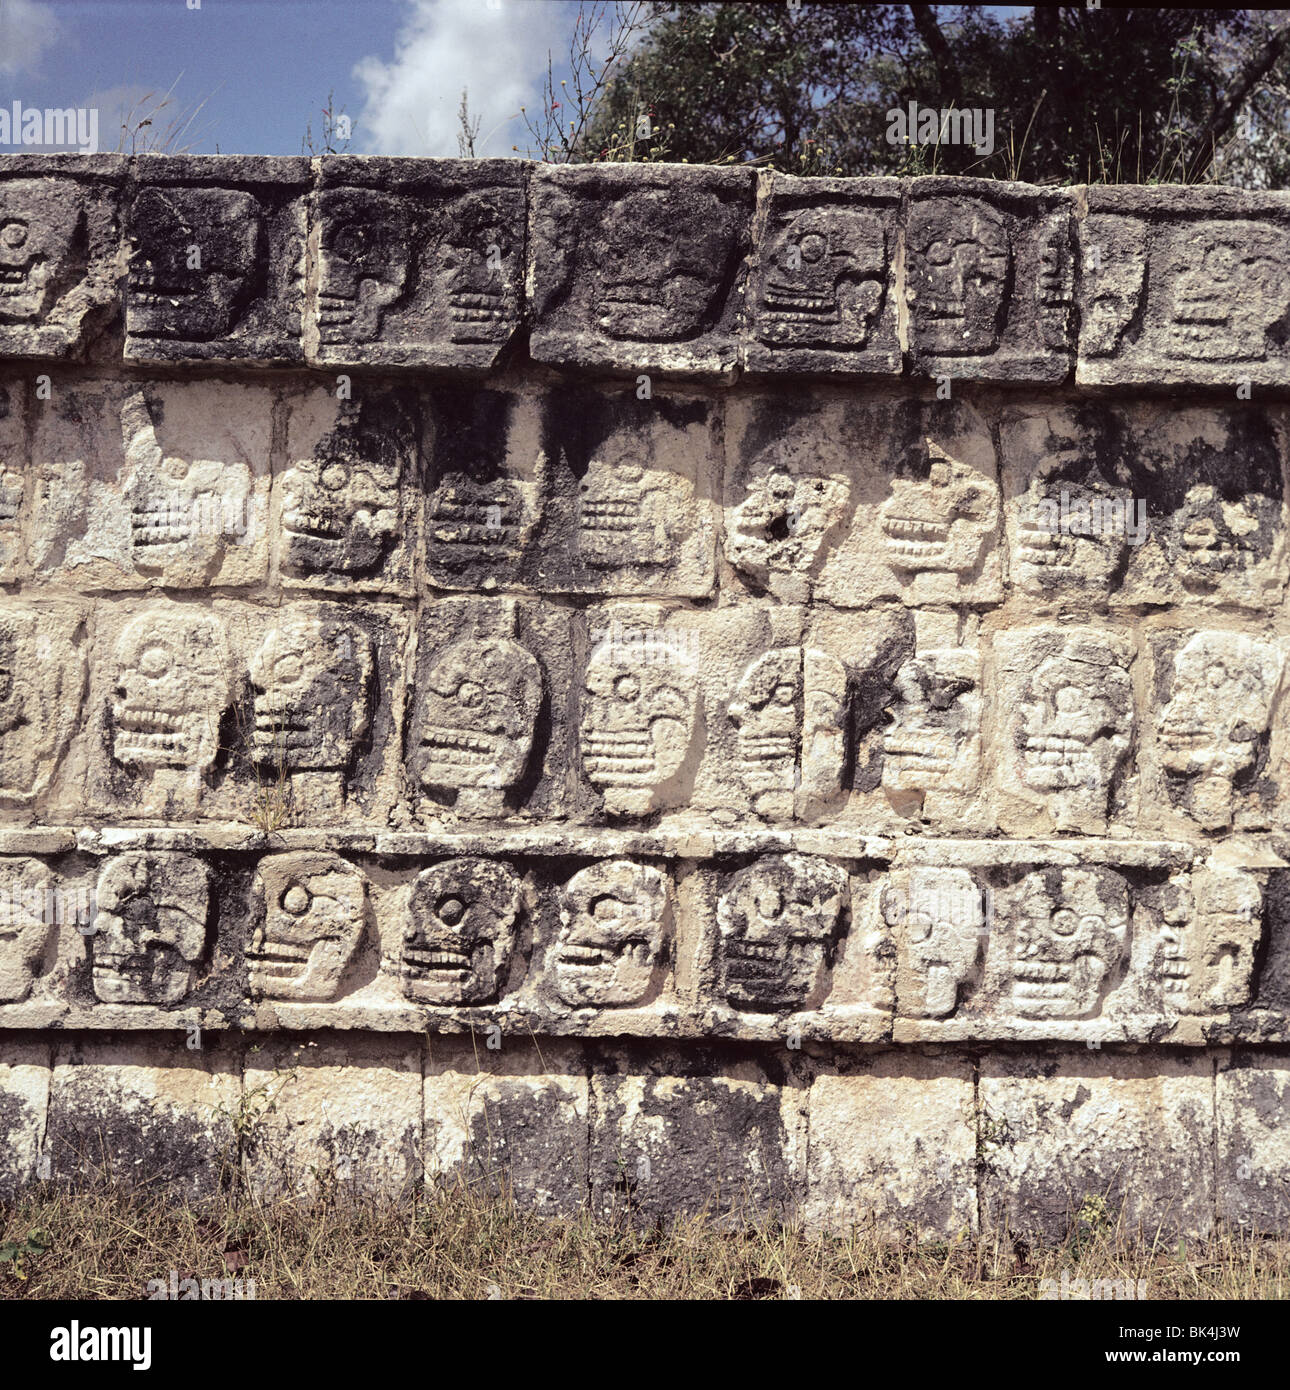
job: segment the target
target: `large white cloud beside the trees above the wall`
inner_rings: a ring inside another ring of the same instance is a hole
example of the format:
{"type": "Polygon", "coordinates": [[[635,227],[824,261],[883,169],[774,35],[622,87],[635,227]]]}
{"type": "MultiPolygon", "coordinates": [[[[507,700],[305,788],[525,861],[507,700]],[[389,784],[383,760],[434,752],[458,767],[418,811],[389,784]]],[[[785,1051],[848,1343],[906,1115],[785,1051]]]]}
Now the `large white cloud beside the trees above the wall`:
{"type": "MultiPolygon", "coordinates": [[[[477,154],[523,152],[520,107],[541,100],[546,53],[559,70],[577,4],[566,0],[407,0],[391,63],[354,67],[366,104],[354,138],[368,154],[457,153],[462,88],[481,118],[477,154]]],[[[559,82],[559,71],[556,82],[559,82]]]]}

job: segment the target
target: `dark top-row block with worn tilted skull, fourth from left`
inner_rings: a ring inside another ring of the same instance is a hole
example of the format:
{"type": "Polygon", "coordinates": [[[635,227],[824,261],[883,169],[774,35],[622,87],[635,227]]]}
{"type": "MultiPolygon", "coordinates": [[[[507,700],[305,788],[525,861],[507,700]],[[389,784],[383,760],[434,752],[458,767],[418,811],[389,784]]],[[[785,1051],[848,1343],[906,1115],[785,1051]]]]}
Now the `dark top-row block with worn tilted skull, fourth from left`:
{"type": "Polygon", "coordinates": [[[728,377],[753,203],[748,170],[539,167],[530,285],[537,361],[728,377]]]}

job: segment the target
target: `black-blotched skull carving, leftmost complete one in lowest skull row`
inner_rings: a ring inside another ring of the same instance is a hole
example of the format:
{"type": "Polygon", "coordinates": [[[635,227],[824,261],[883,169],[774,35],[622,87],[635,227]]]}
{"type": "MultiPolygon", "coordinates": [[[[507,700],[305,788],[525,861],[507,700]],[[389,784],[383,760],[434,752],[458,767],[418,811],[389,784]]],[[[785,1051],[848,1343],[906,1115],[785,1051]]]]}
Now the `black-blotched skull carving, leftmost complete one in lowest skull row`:
{"type": "Polygon", "coordinates": [[[210,870],[190,855],[136,851],[99,874],[95,994],[104,1004],[178,1004],[206,949],[210,870]]]}

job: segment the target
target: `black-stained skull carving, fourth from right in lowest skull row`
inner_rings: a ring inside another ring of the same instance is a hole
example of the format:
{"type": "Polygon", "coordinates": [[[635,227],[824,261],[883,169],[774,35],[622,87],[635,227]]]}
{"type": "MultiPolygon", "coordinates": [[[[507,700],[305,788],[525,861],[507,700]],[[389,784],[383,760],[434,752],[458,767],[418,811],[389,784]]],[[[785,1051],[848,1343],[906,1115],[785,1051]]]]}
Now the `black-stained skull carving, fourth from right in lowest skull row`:
{"type": "Polygon", "coordinates": [[[833,963],[847,874],[808,855],[767,855],[717,903],[721,994],[737,1009],[801,1009],[833,963]]]}

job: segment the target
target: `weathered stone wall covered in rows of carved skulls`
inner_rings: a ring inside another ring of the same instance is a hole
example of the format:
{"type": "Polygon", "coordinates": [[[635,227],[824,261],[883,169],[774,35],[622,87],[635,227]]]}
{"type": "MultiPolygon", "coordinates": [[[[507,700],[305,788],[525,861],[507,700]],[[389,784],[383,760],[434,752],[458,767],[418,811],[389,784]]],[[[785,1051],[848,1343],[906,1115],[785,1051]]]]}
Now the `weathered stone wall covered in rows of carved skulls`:
{"type": "Polygon", "coordinates": [[[1290,196],[0,165],[0,1194],[1272,1229],[1290,196]]]}

